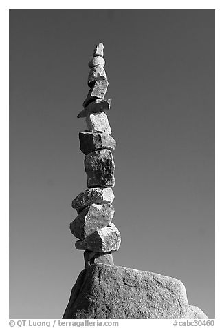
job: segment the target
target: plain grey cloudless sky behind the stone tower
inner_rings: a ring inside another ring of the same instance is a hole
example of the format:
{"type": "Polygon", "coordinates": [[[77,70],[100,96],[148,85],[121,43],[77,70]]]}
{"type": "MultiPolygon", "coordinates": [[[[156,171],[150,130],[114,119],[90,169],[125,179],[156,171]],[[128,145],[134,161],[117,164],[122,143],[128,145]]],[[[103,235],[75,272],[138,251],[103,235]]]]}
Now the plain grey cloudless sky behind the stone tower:
{"type": "Polygon", "coordinates": [[[214,318],[214,10],[10,10],[10,318],[61,318],[84,268],[76,115],[100,41],[115,265],[178,278],[214,318]]]}

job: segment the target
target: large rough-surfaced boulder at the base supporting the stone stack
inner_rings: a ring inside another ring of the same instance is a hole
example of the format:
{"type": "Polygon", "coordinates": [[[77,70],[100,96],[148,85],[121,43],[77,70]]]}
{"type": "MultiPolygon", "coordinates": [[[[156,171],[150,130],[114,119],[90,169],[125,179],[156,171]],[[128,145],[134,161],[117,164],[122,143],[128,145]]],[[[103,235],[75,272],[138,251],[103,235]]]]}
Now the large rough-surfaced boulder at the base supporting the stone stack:
{"type": "Polygon", "coordinates": [[[175,278],[98,264],[78,276],[63,319],[188,319],[189,308],[175,278]]]}

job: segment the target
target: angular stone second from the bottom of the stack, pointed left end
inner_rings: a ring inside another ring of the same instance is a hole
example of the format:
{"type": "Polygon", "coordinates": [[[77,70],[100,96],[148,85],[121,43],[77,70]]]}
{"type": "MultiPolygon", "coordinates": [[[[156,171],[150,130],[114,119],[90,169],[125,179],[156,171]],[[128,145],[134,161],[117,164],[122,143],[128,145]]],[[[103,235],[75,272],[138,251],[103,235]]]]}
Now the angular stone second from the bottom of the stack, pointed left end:
{"type": "Polygon", "coordinates": [[[120,247],[120,232],[113,223],[108,227],[96,230],[84,240],[76,241],[77,249],[87,249],[92,252],[105,253],[117,251],[120,247]]]}

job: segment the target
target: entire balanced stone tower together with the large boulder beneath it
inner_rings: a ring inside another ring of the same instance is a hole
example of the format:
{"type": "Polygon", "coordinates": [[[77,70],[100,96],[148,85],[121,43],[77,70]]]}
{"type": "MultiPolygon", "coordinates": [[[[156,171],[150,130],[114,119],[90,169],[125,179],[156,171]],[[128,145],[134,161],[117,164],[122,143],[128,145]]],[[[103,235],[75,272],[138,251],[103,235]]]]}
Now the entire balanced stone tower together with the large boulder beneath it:
{"type": "Polygon", "coordinates": [[[85,270],[71,289],[63,319],[207,319],[201,309],[189,305],[180,280],[113,265],[111,253],[120,247],[120,232],[111,223],[115,185],[111,151],[116,143],[106,114],[111,99],[104,100],[108,82],[103,48],[99,43],[89,62],[90,90],[78,114],[88,127],[79,134],[88,189],[72,201],[78,216],[70,229],[80,239],[76,248],[85,250],[85,270]]]}

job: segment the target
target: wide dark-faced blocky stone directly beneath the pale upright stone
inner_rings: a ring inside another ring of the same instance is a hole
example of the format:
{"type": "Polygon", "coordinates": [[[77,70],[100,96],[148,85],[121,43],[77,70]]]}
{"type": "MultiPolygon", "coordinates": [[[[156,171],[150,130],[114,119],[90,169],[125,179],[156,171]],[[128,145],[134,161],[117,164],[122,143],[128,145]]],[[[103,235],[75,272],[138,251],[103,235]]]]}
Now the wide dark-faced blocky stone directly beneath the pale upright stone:
{"type": "Polygon", "coordinates": [[[104,132],[79,132],[80,150],[85,154],[94,150],[115,150],[116,141],[104,132]]]}

